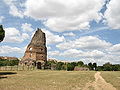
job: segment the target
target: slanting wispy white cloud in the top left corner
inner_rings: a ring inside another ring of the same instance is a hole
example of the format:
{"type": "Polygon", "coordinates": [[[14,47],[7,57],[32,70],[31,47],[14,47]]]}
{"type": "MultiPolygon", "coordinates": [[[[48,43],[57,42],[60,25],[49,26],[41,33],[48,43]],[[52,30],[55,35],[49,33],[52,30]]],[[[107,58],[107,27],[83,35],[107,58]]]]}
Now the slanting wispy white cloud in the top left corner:
{"type": "Polygon", "coordinates": [[[4,0],[4,2],[9,6],[9,14],[15,17],[20,17],[20,18],[24,17],[23,12],[19,10],[14,3],[17,2],[17,0],[4,0]]]}

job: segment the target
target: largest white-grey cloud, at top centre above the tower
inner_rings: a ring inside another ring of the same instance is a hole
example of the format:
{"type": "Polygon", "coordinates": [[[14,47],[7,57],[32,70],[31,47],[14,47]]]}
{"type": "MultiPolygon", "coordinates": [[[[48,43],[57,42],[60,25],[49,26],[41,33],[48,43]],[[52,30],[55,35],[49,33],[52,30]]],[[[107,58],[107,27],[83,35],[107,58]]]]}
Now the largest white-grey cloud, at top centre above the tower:
{"type": "Polygon", "coordinates": [[[89,29],[90,21],[101,20],[104,0],[27,0],[25,15],[44,20],[56,32],[89,29]]]}

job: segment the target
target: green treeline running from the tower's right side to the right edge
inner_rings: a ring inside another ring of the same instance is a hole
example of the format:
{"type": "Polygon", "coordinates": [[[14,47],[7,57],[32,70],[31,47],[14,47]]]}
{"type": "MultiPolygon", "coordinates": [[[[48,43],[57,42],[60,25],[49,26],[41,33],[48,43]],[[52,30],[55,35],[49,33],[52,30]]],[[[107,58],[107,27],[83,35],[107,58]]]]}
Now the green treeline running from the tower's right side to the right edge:
{"type": "Polygon", "coordinates": [[[57,62],[54,60],[48,61],[46,69],[51,70],[67,70],[73,71],[75,68],[88,68],[91,71],[120,71],[120,64],[105,63],[102,66],[97,66],[97,63],[84,64],[82,61],[78,62],[57,62]]]}

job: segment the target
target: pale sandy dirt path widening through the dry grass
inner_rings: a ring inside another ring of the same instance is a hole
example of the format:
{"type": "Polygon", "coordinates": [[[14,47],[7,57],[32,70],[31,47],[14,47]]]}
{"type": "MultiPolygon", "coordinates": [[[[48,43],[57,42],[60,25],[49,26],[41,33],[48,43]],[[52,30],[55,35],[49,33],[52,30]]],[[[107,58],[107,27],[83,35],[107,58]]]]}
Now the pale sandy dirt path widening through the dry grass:
{"type": "Polygon", "coordinates": [[[95,75],[95,81],[89,82],[86,84],[86,86],[82,90],[116,90],[113,85],[110,83],[107,83],[102,76],[100,75],[100,72],[96,72],[95,75]],[[91,89],[90,89],[91,88],[91,89]]]}

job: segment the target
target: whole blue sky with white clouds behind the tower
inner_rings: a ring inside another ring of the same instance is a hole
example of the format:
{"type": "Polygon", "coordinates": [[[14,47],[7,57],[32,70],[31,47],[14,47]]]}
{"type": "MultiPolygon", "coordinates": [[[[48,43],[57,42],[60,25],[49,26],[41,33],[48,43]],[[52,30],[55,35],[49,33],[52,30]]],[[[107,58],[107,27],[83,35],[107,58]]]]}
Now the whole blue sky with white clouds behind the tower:
{"type": "Polygon", "coordinates": [[[0,0],[0,56],[21,58],[37,30],[48,58],[120,64],[120,0],[0,0]]]}

